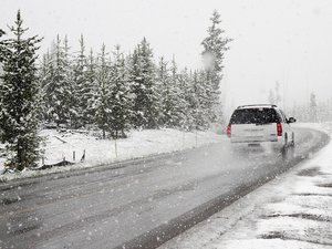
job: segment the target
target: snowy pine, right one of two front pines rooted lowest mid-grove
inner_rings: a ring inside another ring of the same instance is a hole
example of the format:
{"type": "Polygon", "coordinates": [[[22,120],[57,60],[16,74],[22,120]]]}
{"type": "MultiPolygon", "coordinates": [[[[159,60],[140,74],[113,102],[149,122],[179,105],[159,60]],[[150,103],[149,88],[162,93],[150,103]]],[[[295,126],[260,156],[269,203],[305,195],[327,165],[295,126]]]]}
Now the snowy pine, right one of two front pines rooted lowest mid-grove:
{"type": "Polygon", "coordinates": [[[129,126],[131,112],[131,87],[127,81],[125,59],[120,45],[115,46],[113,53],[114,62],[111,66],[110,84],[110,129],[111,136],[115,139],[126,137],[125,129],[129,126]]]}

